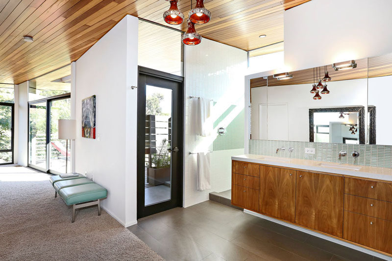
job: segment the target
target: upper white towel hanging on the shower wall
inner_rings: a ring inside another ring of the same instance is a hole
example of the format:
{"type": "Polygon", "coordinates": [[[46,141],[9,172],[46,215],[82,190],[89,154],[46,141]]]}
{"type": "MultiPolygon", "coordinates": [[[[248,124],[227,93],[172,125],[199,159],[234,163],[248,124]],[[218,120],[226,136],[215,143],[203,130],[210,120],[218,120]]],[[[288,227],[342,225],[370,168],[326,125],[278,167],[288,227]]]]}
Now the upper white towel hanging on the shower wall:
{"type": "Polygon", "coordinates": [[[196,133],[202,137],[210,136],[213,130],[211,118],[211,100],[197,99],[196,133]]]}

